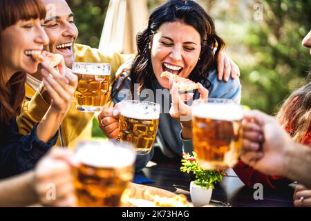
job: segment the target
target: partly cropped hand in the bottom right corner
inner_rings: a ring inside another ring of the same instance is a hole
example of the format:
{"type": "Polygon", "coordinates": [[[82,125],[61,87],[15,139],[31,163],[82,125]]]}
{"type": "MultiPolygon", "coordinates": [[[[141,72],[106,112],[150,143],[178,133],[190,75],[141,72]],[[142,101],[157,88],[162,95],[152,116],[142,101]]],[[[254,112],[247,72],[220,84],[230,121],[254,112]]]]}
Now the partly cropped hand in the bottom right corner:
{"type": "Polygon", "coordinates": [[[310,207],[311,206],[311,190],[305,186],[298,184],[294,191],[294,206],[310,207]]]}

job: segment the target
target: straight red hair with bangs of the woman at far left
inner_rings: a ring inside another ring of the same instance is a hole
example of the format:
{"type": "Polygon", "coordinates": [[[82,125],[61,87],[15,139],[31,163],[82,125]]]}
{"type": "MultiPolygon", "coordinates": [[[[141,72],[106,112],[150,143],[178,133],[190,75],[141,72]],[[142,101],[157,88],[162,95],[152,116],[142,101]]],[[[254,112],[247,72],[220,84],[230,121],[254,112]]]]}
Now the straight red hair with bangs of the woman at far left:
{"type": "Polygon", "coordinates": [[[9,124],[21,111],[25,95],[26,73],[15,73],[8,79],[2,50],[2,32],[19,20],[44,19],[46,9],[41,0],[0,0],[0,126],[9,124]]]}

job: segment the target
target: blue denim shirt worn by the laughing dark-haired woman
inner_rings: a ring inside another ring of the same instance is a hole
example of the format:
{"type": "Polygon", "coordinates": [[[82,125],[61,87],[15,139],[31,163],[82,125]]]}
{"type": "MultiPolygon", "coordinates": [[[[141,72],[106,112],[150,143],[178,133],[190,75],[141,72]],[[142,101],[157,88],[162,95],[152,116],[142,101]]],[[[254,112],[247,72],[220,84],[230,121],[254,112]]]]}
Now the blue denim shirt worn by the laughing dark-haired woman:
{"type": "MultiPolygon", "coordinates": [[[[120,67],[122,68],[122,67],[120,67]]],[[[121,73],[122,75],[122,73],[121,73]]],[[[218,81],[217,79],[218,73],[217,70],[211,70],[209,75],[207,76],[208,82],[205,84],[204,82],[200,82],[205,88],[209,90],[209,98],[226,98],[233,99],[235,102],[241,102],[241,83],[239,79],[229,79],[228,82],[218,81]]],[[[124,83],[122,84],[122,89],[130,88],[131,78],[129,76],[124,75],[126,77],[124,83]]],[[[113,95],[115,95],[115,91],[119,86],[121,86],[120,81],[124,79],[124,77],[120,77],[119,81],[116,82],[115,87],[113,88],[113,95]]],[[[158,83],[156,77],[151,79],[153,83],[151,90],[153,92],[159,88],[162,88],[158,83]]],[[[164,88],[162,88],[164,89],[164,88]]],[[[154,93],[156,94],[156,93],[154,93]]],[[[194,91],[194,99],[198,99],[200,97],[200,93],[198,90],[194,91]]],[[[113,102],[117,104],[122,99],[126,99],[126,96],[114,96],[113,102]]],[[[169,95],[169,99],[171,101],[171,97],[169,95]]],[[[148,99],[144,99],[148,100],[148,99]]],[[[153,99],[154,101],[156,99],[153,99]]],[[[169,102],[171,104],[171,102],[169,102]]],[[[160,104],[162,106],[162,104],[160,104]]],[[[169,108],[171,105],[169,105],[169,108]]],[[[156,137],[156,142],[153,144],[153,148],[160,148],[162,153],[167,157],[174,157],[176,155],[182,155],[183,151],[191,151],[192,148],[192,140],[182,140],[181,137],[181,126],[180,123],[173,119],[169,113],[160,113],[159,119],[159,128],[156,137]]],[[[152,159],[153,157],[153,148],[151,153],[148,155],[138,155],[135,162],[135,171],[141,171],[144,166],[152,159]]]]}

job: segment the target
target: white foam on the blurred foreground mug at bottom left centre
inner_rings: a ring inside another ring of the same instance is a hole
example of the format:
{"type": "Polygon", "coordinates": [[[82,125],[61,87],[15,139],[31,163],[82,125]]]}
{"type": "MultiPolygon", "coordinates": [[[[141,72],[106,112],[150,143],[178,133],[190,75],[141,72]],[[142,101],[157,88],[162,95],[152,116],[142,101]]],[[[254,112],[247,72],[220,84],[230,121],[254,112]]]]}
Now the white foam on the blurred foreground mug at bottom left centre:
{"type": "Polygon", "coordinates": [[[77,148],[75,160],[88,166],[119,168],[135,162],[135,151],[111,142],[85,143],[77,148]]]}

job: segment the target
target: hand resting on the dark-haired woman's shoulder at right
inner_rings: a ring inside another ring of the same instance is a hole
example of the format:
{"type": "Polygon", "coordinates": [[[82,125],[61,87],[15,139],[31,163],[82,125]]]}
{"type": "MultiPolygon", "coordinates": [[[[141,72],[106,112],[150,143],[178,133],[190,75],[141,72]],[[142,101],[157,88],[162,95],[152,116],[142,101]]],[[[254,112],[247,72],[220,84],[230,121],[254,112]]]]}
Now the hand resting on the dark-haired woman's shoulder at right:
{"type": "Polygon", "coordinates": [[[220,51],[217,56],[217,70],[218,70],[218,81],[222,79],[224,81],[229,81],[229,77],[236,79],[240,77],[240,68],[232,61],[232,59],[225,53],[225,51],[220,51]]]}

